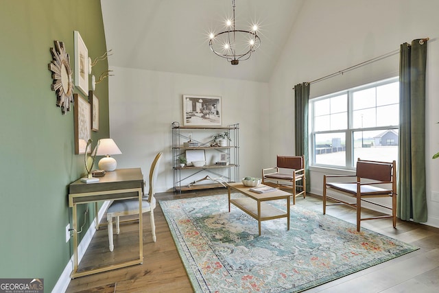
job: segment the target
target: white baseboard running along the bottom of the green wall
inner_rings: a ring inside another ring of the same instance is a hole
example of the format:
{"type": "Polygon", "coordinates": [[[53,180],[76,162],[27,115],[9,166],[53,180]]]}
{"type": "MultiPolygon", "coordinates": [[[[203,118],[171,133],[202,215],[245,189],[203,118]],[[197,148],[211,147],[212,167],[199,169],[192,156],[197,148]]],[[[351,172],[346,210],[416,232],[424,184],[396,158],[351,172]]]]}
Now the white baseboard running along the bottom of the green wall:
{"type": "MultiPolygon", "coordinates": [[[[104,204],[102,204],[101,209],[99,209],[99,212],[97,213],[97,219],[99,222],[101,222],[109,206],[110,206],[110,201],[106,201],[104,202],[104,204]]],[[[84,254],[88,248],[88,245],[91,242],[91,239],[93,239],[93,235],[95,235],[95,232],[96,232],[95,223],[93,223],[88,227],[88,230],[84,235],[84,237],[82,238],[80,245],[78,245],[78,263],[80,263],[82,257],[84,257],[84,254]]],[[[67,263],[66,267],[62,271],[60,278],[55,284],[54,289],[52,289],[51,291],[52,293],[66,292],[71,280],[70,278],[71,272],[73,272],[73,255],[71,256],[69,262],[67,263]]]]}

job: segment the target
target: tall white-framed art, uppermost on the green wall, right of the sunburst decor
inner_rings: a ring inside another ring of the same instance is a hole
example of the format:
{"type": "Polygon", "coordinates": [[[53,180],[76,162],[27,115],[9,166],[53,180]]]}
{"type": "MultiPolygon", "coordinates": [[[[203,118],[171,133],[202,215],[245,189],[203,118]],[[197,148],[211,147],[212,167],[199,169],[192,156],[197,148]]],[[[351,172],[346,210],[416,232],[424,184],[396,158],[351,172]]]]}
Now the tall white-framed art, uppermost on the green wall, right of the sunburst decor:
{"type": "Polygon", "coordinates": [[[88,95],[88,50],[80,32],[75,31],[75,86],[88,95]]]}

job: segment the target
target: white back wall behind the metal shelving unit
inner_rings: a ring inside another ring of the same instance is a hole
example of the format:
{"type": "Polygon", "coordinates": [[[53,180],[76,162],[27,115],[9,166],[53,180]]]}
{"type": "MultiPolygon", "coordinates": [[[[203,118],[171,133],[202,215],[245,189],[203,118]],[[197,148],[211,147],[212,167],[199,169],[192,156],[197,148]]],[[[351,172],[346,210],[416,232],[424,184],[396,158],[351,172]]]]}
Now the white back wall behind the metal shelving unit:
{"type": "MultiPolygon", "coordinates": [[[[239,123],[241,177],[261,176],[261,154],[268,152],[268,84],[198,75],[111,67],[110,136],[123,154],[117,167],[141,167],[147,180],[157,152],[158,192],[173,188],[171,123],[182,124],[182,95],[222,97],[222,124],[239,123]]],[[[272,162],[274,163],[274,160],[272,162]]],[[[194,178],[194,180],[199,178],[194,178]]]]}

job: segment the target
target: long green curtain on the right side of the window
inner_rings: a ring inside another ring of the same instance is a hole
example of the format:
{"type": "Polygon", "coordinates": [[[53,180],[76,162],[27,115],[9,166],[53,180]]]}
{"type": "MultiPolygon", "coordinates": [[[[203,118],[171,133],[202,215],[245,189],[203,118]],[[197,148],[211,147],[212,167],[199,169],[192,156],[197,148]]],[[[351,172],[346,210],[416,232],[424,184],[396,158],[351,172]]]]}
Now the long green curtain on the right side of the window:
{"type": "Polygon", "coordinates": [[[425,67],[427,40],[401,45],[399,60],[398,209],[401,220],[427,222],[425,67]]]}

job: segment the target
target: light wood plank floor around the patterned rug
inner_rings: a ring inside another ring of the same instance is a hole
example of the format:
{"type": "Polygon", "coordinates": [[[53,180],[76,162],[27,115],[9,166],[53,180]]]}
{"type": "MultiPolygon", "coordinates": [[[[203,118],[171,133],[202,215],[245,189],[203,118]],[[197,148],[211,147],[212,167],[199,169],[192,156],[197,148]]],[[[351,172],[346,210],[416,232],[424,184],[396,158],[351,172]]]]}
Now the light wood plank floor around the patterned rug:
{"type": "MultiPolygon", "coordinates": [[[[156,199],[209,196],[225,192],[225,189],[214,189],[181,196],[170,192],[158,194],[156,199]]],[[[322,211],[320,196],[307,194],[305,199],[297,198],[296,204],[322,211]]],[[[355,209],[350,207],[328,207],[327,213],[355,222],[355,209]]],[[[193,292],[160,206],[156,207],[154,215],[157,236],[155,243],[152,242],[150,217],[148,214],[143,217],[143,264],[72,279],[67,292],[193,292]]],[[[256,220],[254,224],[257,225],[256,220]]],[[[361,226],[420,249],[306,292],[439,292],[439,228],[399,220],[395,229],[390,219],[364,221],[361,226]]],[[[100,228],[80,266],[93,267],[96,263],[119,261],[125,257],[134,259],[139,253],[137,227],[137,224],[121,224],[121,234],[115,235],[113,253],[108,252],[106,228],[100,228]]]]}

